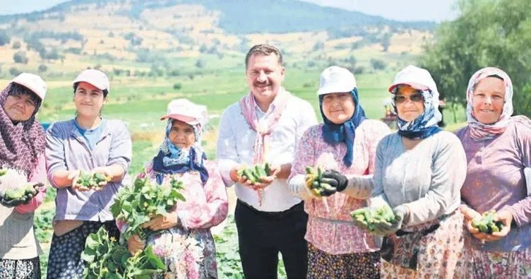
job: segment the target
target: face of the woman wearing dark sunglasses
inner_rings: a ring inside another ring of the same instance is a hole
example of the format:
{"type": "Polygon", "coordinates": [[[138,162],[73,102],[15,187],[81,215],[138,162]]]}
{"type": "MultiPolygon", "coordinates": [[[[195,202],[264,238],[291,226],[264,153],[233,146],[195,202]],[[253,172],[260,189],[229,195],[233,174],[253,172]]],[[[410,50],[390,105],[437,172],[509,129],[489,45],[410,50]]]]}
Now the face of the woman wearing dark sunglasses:
{"type": "Polygon", "coordinates": [[[424,112],[422,93],[410,85],[401,85],[393,99],[398,117],[404,121],[413,121],[424,112]]]}

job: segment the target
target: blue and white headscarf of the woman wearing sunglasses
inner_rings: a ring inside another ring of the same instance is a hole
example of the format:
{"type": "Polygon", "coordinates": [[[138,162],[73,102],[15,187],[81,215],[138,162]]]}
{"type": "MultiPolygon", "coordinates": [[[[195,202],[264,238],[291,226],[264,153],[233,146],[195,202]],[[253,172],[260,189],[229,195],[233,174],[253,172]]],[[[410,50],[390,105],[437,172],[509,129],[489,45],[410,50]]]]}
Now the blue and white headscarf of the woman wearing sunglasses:
{"type": "MultiPolygon", "coordinates": [[[[398,90],[395,89],[395,90],[398,90]]],[[[396,94],[395,91],[393,94],[396,94]]],[[[424,97],[424,112],[413,121],[407,122],[398,117],[396,105],[393,102],[393,108],[397,114],[398,134],[406,138],[419,139],[427,138],[440,131],[441,127],[437,126],[438,121],[441,121],[441,112],[438,111],[438,92],[431,90],[422,90],[424,97]]]]}

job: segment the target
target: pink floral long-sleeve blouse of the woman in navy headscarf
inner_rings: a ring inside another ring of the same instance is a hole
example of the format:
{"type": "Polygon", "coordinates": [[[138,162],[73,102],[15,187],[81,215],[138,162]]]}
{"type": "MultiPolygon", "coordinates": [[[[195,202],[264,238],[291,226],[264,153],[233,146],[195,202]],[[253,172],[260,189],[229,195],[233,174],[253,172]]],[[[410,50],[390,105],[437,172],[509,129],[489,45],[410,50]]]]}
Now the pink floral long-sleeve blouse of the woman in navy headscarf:
{"type": "MultiPolygon", "coordinates": [[[[292,165],[288,184],[290,191],[304,199],[304,210],[308,213],[306,240],[328,254],[351,254],[377,251],[374,237],[367,235],[352,222],[350,212],[366,206],[368,196],[350,196],[350,189],[335,193],[327,198],[308,197],[301,192],[299,183],[294,177],[304,177],[306,166],[333,168],[350,176],[352,174],[372,174],[378,142],[390,133],[390,129],[381,121],[366,119],[356,128],[354,138],[354,162],[347,167],[343,157],[347,153],[345,143],[328,144],[323,138],[323,124],[312,126],[306,130],[297,145],[297,153],[292,165]],[[330,159],[328,159],[330,158],[330,159]],[[327,162],[333,160],[333,162],[327,162]],[[326,203],[325,203],[326,201],[326,203]],[[328,205],[328,209],[327,209],[328,205]]],[[[297,178],[295,178],[297,180],[297,178]]],[[[302,180],[304,181],[304,179],[302,180]]],[[[306,185],[303,185],[306,187],[306,185]]],[[[369,192],[370,193],[370,192],[369,192]]]]}

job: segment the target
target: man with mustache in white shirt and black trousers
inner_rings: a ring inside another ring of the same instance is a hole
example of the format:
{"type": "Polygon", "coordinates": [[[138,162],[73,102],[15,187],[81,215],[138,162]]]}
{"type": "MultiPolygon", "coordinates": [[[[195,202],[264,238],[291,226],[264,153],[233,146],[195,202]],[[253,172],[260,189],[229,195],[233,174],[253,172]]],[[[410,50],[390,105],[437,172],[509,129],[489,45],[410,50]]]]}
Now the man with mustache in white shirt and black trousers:
{"type": "Polygon", "coordinates": [[[246,80],[251,92],[230,105],[220,119],[217,160],[227,186],[238,197],[234,218],[239,254],[246,278],[277,278],[278,252],[288,278],[306,278],[308,215],[301,199],[290,194],[295,146],[317,124],[309,102],[282,88],[282,54],[258,44],[246,55],[246,80]],[[273,175],[250,184],[239,177],[243,165],[268,162],[273,175]]]}

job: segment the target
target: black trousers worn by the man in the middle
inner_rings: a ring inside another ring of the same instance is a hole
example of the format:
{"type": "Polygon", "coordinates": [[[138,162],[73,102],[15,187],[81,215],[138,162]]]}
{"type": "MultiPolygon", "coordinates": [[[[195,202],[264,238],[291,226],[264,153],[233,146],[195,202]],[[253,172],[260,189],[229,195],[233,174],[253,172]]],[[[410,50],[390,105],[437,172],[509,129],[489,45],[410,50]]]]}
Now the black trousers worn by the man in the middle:
{"type": "Polygon", "coordinates": [[[282,254],[287,278],[306,278],[308,247],[304,235],[308,215],[304,203],[269,213],[238,200],[234,219],[245,278],[277,278],[278,252],[282,254]]]}

